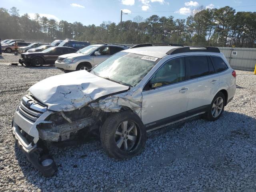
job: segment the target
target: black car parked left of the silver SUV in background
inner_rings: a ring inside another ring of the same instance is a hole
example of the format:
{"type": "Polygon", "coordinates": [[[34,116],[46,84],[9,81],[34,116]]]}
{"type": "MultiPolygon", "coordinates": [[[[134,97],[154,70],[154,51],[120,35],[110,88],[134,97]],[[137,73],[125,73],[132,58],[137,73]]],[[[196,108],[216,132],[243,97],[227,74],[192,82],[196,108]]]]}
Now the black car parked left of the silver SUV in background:
{"type": "Polygon", "coordinates": [[[26,52],[20,54],[21,59],[20,64],[25,64],[26,66],[42,66],[44,64],[54,64],[58,56],[75,53],[76,49],[72,47],[50,47],[41,52],[26,52]]]}

